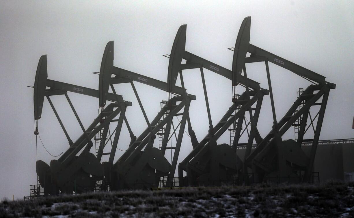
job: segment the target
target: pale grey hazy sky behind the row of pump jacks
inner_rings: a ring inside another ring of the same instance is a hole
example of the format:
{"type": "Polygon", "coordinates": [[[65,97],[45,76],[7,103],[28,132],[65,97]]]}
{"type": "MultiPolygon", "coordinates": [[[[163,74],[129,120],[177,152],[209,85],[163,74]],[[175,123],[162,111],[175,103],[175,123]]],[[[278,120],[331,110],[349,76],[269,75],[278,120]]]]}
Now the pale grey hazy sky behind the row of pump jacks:
{"type": "MultiPolygon", "coordinates": [[[[0,198],[29,195],[36,184],[36,147],[33,89],[38,60],[47,55],[48,78],[98,89],[104,47],[114,40],[114,65],[167,81],[168,59],[176,32],[187,24],[186,50],[231,69],[235,45],[244,17],[252,16],[251,40],[261,47],[306,67],[336,83],[331,90],[320,139],[353,138],[354,116],[354,4],[353,1],[3,1],[0,0],[1,152],[0,198]]],[[[296,99],[296,90],[309,85],[297,75],[270,64],[278,120],[296,99]]],[[[231,82],[205,70],[213,124],[231,106],[231,82]]],[[[247,65],[247,74],[268,89],[264,63],[247,65]]],[[[184,71],[188,93],[197,96],[190,116],[198,140],[207,134],[206,107],[199,70],[184,71]]],[[[161,90],[135,83],[151,121],[167,98],[161,90]]],[[[129,84],[115,85],[131,101],[126,111],[135,135],[146,123],[129,84]]],[[[241,89],[239,89],[241,91],[241,89]]],[[[98,114],[98,99],[69,93],[85,127],[98,114]]],[[[81,134],[64,96],[53,104],[73,141],[81,134]]],[[[315,112],[313,112],[315,115],[315,112]]],[[[314,116],[313,115],[313,116],[314,116]]],[[[174,121],[176,124],[178,120],[174,121]]],[[[272,128],[269,96],[264,97],[258,129],[262,137],[272,128]]],[[[113,128],[112,128],[113,129],[113,128]]],[[[186,128],[187,129],[187,128],[186,128]]],[[[293,128],[283,139],[293,138],[293,128]]],[[[68,142],[47,100],[39,133],[53,155],[68,142]]],[[[306,138],[311,138],[312,133],[306,138]]],[[[130,138],[124,125],[118,148],[130,138]]],[[[246,138],[242,138],[242,142],[246,138]]],[[[229,143],[225,133],[218,143],[229,143]]],[[[191,151],[184,136],[179,162],[191,151]]],[[[110,150],[110,146],[107,146],[110,150]]],[[[94,152],[94,149],[92,149],[94,152]]],[[[117,150],[116,159],[122,152],[117,150]]],[[[108,158],[108,157],[107,157],[108,158]]],[[[170,160],[171,156],[167,156],[170,160]]],[[[53,159],[39,142],[38,159],[53,159]]]]}

